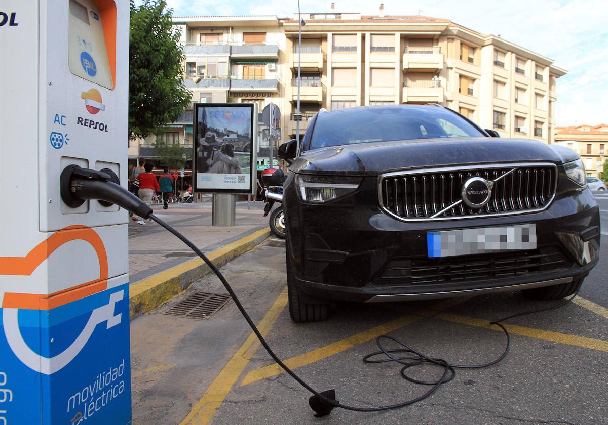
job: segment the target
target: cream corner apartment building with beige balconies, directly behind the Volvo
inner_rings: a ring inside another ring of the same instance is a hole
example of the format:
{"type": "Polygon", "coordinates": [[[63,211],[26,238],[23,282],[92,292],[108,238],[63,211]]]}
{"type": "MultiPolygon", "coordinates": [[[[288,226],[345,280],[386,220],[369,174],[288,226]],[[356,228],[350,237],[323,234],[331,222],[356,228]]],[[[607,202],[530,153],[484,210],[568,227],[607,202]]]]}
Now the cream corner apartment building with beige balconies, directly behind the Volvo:
{"type": "MultiPolygon", "coordinates": [[[[501,137],[553,141],[555,84],[566,72],[550,58],[447,19],[384,16],[382,5],[378,16],[332,10],[302,18],[304,120],[319,107],[433,102],[501,137]]],[[[292,100],[297,15],[283,20],[283,29],[292,100]]]]}

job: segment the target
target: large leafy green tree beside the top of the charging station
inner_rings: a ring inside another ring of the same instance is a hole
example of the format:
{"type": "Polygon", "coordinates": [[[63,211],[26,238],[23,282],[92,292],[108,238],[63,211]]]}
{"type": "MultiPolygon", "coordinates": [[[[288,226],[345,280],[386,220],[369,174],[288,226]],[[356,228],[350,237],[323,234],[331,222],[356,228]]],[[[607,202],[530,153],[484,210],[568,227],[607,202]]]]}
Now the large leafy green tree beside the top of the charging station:
{"type": "Polygon", "coordinates": [[[184,112],[192,94],[184,85],[184,55],[165,0],[131,0],[129,138],[160,134],[184,112]]]}

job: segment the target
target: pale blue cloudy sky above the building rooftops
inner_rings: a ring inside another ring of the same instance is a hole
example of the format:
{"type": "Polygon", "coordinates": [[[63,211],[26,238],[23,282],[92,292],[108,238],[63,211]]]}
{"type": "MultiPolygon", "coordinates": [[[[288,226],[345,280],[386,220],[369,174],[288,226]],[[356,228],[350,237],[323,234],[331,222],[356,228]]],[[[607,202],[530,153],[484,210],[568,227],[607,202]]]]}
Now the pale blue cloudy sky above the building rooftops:
{"type": "MultiPolygon", "coordinates": [[[[297,0],[168,0],[174,16],[297,13],[297,0]]],[[[558,126],[608,123],[608,2],[606,0],[334,0],[336,12],[424,15],[451,19],[527,47],[568,71],[557,83],[558,126]]],[[[329,12],[331,0],[301,0],[304,12],[329,12]]]]}

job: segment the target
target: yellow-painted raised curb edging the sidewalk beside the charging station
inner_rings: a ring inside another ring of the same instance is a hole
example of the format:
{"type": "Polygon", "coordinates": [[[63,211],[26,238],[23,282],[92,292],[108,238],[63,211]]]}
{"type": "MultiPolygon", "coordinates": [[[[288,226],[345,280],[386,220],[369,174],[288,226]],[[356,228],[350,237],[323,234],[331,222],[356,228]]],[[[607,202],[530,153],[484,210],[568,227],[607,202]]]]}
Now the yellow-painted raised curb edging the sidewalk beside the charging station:
{"type": "MultiPolygon", "coordinates": [[[[271,236],[269,228],[258,230],[206,255],[213,264],[221,267],[257,247],[269,236],[271,236]]],[[[131,285],[129,288],[131,320],[170,301],[209,273],[212,273],[209,266],[202,259],[196,258],[131,285]]]]}

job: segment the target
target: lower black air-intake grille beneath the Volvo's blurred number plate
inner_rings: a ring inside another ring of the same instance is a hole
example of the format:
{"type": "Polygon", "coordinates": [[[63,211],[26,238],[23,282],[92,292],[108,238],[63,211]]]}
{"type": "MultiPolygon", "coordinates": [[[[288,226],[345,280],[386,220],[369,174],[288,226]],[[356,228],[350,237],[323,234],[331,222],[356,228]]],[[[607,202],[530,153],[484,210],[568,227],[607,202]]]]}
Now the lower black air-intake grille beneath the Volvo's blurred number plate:
{"type": "Polygon", "coordinates": [[[374,285],[398,287],[486,281],[553,271],[571,265],[572,262],[558,247],[441,258],[395,257],[374,285]]]}

